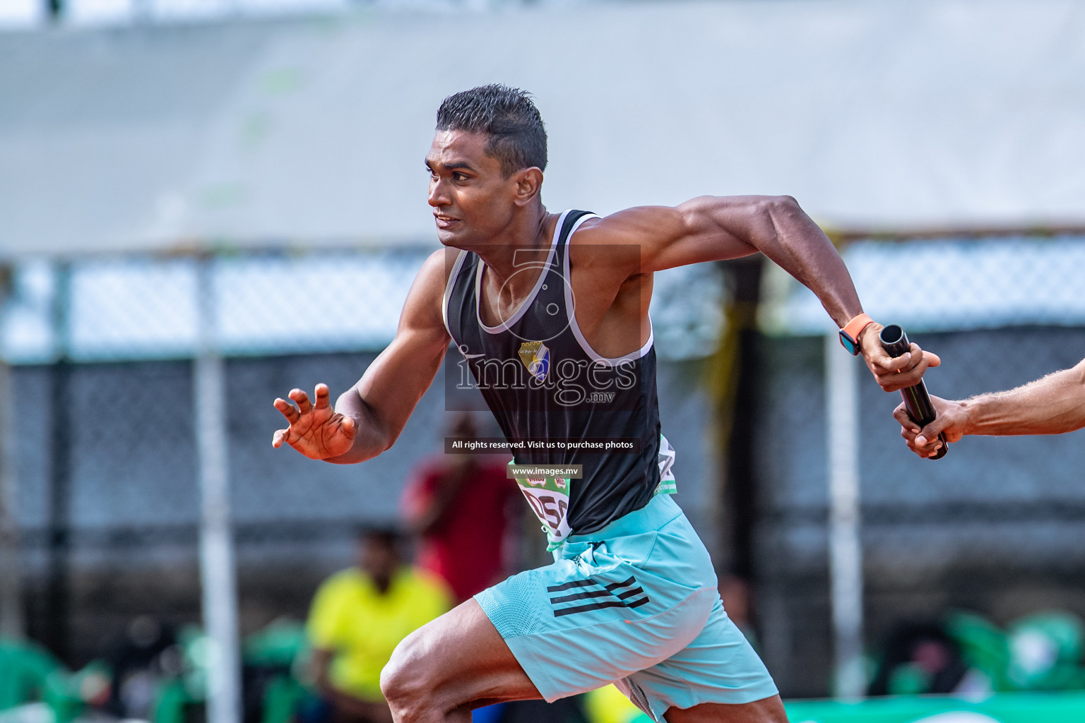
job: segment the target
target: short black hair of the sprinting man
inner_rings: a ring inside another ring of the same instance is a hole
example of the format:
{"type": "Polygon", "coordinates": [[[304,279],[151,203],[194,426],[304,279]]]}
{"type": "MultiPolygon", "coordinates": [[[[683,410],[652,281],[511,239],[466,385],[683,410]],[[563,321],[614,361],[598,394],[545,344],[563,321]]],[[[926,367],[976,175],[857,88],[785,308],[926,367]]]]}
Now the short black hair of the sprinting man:
{"type": "Polygon", "coordinates": [[[531,93],[489,85],[449,95],[437,108],[437,130],[485,133],[486,153],[508,178],[521,168],[546,170],[546,127],[531,93]]]}

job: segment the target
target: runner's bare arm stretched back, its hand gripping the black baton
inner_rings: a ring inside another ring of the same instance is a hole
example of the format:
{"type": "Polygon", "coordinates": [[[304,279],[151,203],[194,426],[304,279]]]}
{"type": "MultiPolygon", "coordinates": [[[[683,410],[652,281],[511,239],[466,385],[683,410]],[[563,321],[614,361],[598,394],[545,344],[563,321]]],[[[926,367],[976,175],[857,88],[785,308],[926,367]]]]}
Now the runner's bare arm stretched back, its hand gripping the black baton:
{"type": "MultiPolygon", "coordinates": [[[[601,219],[586,232],[583,243],[599,244],[600,249],[608,244],[640,247],[639,260],[617,269],[618,274],[761,251],[814,292],[839,327],[863,312],[840,254],[791,196],[701,196],[673,208],[630,208],[601,219]]],[[[928,366],[939,364],[935,354],[915,344],[909,352],[891,358],[881,348],[879,331],[880,324],[870,324],[858,340],[867,366],[885,391],[917,384],[928,366]]]]}

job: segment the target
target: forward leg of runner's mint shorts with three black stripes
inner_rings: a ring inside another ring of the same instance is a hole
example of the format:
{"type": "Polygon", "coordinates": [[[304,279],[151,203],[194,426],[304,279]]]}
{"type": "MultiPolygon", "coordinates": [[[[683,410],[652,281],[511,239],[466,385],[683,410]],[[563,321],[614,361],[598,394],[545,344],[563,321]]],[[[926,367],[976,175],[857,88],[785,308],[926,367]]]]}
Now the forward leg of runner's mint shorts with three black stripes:
{"type": "Polygon", "coordinates": [[[643,565],[661,537],[566,543],[553,565],[475,596],[546,700],[655,666],[700,633],[718,594],[714,585],[687,586],[663,577],[661,566],[643,565]]]}

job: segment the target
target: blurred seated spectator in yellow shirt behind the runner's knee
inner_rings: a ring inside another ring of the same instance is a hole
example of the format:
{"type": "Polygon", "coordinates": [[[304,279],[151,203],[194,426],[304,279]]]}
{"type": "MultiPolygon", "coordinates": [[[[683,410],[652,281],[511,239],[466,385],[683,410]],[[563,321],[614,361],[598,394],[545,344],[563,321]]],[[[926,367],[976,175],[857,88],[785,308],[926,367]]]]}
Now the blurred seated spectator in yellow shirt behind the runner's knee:
{"type": "Polygon", "coordinates": [[[358,566],[326,580],[312,601],[314,672],[332,723],[391,723],[381,669],[399,641],[451,607],[439,580],[403,564],[398,543],[392,530],[362,530],[358,566]]]}

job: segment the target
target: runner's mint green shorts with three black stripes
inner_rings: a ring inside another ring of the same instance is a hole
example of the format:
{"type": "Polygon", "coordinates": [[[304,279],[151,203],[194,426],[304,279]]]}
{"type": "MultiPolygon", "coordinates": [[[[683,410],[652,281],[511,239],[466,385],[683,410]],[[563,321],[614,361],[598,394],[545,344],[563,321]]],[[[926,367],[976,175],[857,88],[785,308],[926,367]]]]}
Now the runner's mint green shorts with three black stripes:
{"type": "Polygon", "coordinates": [[[727,617],[709,552],[668,494],[598,532],[573,534],[554,563],[475,595],[547,700],[614,683],[653,721],[671,707],[777,694],[727,617]]]}

